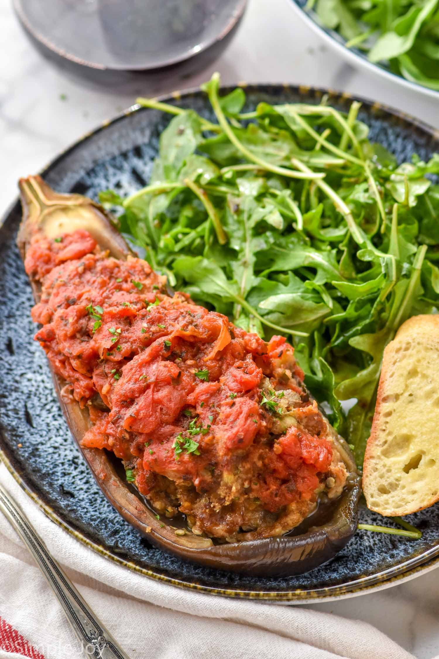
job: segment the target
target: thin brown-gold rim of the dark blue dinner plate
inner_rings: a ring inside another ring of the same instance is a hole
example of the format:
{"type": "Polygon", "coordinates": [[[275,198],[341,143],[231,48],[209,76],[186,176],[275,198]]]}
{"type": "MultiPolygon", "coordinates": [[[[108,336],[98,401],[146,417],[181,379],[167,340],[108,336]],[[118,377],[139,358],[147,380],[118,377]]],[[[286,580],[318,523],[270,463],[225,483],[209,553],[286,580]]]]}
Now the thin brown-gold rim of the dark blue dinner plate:
{"type": "MultiPolygon", "coordinates": [[[[254,90],[255,92],[261,91],[262,89],[264,90],[276,90],[282,88],[285,91],[291,91],[295,92],[298,96],[307,96],[308,100],[313,99],[319,99],[322,98],[324,95],[328,95],[328,97],[333,100],[333,101],[351,101],[351,100],[357,100],[360,101],[363,105],[365,105],[370,113],[378,113],[382,112],[385,113],[386,115],[390,115],[391,117],[394,117],[400,121],[403,121],[403,123],[409,123],[412,127],[416,127],[417,129],[423,130],[423,132],[426,132],[432,139],[436,140],[439,142],[439,130],[434,129],[434,127],[428,125],[428,123],[417,119],[416,117],[412,117],[411,115],[404,113],[403,111],[400,111],[398,109],[394,109],[392,107],[389,107],[388,105],[384,105],[382,103],[376,103],[373,102],[369,99],[366,98],[361,98],[359,96],[351,96],[351,94],[346,94],[345,92],[337,92],[334,90],[327,90],[323,88],[315,88],[307,85],[290,85],[290,84],[282,84],[282,83],[248,83],[247,82],[239,82],[236,85],[226,85],[221,87],[222,92],[230,92],[230,90],[233,90],[234,88],[242,87],[244,90],[254,90]]],[[[188,90],[177,90],[175,92],[172,92],[171,94],[163,94],[159,97],[157,97],[157,101],[161,102],[167,102],[167,103],[172,103],[175,101],[180,100],[181,98],[191,98],[193,96],[199,96],[200,94],[204,94],[204,92],[201,90],[199,87],[194,87],[190,88],[188,90]]],[[[90,130],[89,132],[86,132],[78,140],[70,144],[70,146],[67,146],[65,150],[59,152],[57,156],[55,156],[53,159],[47,163],[40,171],[39,174],[41,176],[47,175],[53,167],[59,163],[62,159],[66,158],[68,154],[73,152],[76,148],[80,147],[84,142],[86,142],[89,138],[94,136],[95,134],[99,134],[99,132],[102,132],[105,130],[107,127],[114,125],[115,123],[118,123],[118,121],[122,121],[124,118],[129,117],[133,113],[136,112],[145,112],[145,111],[154,111],[151,108],[148,107],[142,107],[138,103],[134,103],[134,105],[131,105],[128,107],[126,110],[124,110],[122,113],[119,113],[113,119],[104,121],[100,125],[98,125],[95,129],[90,130]]],[[[11,204],[9,204],[8,208],[5,210],[5,213],[2,215],[0,219],[0,228],[5,225],[7,220],[9,219],[11,213],[14,211],[16,208],[17,204],[19,204],[19,198],[18,196],[13,200],[11,204]]],[[[332,585],[328,587],[320,587],[320,588],[311,588],[309,590],[302,590],[301,588],[297,588],[296,590],[245,590],[245,588],[215,588],[212,586],[204,585],[201,583],[197,583],[194,579],[194,581],[188,581],[184,579],[184,577],[179,578],[179,577],[172,577],[170,575],[167,575],[158,569],[147,569],[145,567],[141,567],[140,565],[136,565],[134,562],[125,560],[120,558],[120,556],[117,556],[113,553],[111,553],[109,550],[107,550],[104,546],[101,546],[100,544],[97,544],[87,538],[82,532],[78,531],[77,529],[74,529],[72,526],[70,526],[64,519],[62,519],[61,515],[55,512],[53,508],[48,503],[45,503],[42,498],[38,496],[34,488],[26,482],[25,478],[23,478],[22,474],[19,473],[17,469],[13,466],[12,462],[9,460],[9,457],[7,457],[7,454],[3,450],[3,448],[0,445],[0,461],[5,464],[5,467],[9,471],[9,473],[12,474],[16,482],[20,485],[22,490],[26,493],[27,496],[29,496],[34,503],[38,505],[38,507],[45,513],[51,521],[53,521],[55,524],[57,524],[59,527],[62,529],[66,530],[70,535],[72,535],[76,540],[79,540],[84,544],[85,546],[88,546],[91,550],[97,552],[97,554],[100,554],[101,556],[104,556],[105,558],[114,561],[115,563],[118,563],[122,565],[123,567],[126,567],[127,569],[130,569],[136,573],[140,573],[150,579],[155,579],[156,581],[162,581],[163,583],[169,583],[170,585],[184,588],[186,590],[197,590],[198,592],[204,592],[207,594],[214,594],[214,595],[219,595],[219,596],[225,596],[225,597],[231,597],[231,598],[241,598],[241,599],[251,599],[251,600],[259,600],[259,601],[269,601],[269,602],[278,602],[278,603],[290,603],[290,604],[311,604],[311,603],[317,603],[317,602],[327,602],[327,601],[333,601],[333,600],[339,600],[342,598],[349,598],[361,594],[365,594],[366,592],[370,592],[373,590],[379,590],[380,588],[388,588],[393,585],[398,585],[399,583],[403,583],[403,581],[409,581],[410,579],[413,579],[417,575],[429,571],[430,569],[433,569],[436,567],[436,565],[439,564],[439,543],[435,546],[430,548],[429,550],[426,550],[426,552],[423,552],[419,556],[415,556],[411,559],[407,559],[407,561],[403,561],[398,566],[390,567],[386,569],[383,572],[378,572],[374,573],[374,575],[369,575],[366,577],[360,577],[359,579],[355,579],[355,581],[351,581],[345,585],[332,585]]]]}

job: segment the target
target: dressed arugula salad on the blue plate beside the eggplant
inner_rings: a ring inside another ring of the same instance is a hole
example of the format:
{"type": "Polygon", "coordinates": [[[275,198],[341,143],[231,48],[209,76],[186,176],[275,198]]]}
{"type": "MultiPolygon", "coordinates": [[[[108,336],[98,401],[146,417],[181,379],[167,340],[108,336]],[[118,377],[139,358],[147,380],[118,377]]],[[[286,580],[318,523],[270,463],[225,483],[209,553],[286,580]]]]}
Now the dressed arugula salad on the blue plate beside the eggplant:
{"type": "Polygon", "coordinates": [[[170,115],[151,181],[100,201],[172,287],[292,341],[361,468],[384,347],[409,316],[437,312],[439,156],[398,165],[355,101],[347,114],[325,98],[243,112],[244,90],[220,96],[219,74],[203,90],[216,121],[138,100],[170,115]]]}

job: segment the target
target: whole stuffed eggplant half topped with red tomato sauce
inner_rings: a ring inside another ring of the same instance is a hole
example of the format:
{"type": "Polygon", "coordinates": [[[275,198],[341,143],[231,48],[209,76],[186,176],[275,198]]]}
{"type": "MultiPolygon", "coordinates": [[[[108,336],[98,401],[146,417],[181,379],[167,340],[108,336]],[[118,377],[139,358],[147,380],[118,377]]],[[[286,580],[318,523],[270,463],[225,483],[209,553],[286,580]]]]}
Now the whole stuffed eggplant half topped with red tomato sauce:
{"type": "Polygon", "coordinates": [[[40,177],[20,192],[35,338],[109,501],[195,563],[294,575],[332,558],[357,528],[359,476],[284,337],[170,291],[91,200],[40,177]]]}

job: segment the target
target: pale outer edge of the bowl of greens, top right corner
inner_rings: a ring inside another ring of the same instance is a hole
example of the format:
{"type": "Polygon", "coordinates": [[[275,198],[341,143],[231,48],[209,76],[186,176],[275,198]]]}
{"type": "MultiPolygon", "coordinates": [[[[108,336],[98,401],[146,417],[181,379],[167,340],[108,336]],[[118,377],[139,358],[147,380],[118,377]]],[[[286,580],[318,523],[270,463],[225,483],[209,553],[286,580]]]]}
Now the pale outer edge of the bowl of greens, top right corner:
{"type": "Polygon", "coordinates": [[[358,48],[347,48],[346,39],[344,39],[336,30],[331,30],[326,28],[320,21],[319,16],[315,11],[305,10],[307,5],[307,0],[288,0],[296,15],[303,20],[311,30],[314,30],[321,39],[323,39],[331,48],[334,48],[344,59],[346,59],[353,67],[361,67],[369,73],[373,73],[384,80],[391,80],[396,82],[402,87],[411,90],[412,92],[421,92],[421,94],[426,94],[426,96],[432,96],[436,100],[439,100],[439,92],[425,87],[418,82],[412,82],[403,78],[403,76],[398,76],[396,73],[390,71],[390,67],[384,64],[373,64],[367,59],[367,56],[363,51],[358,48]]]}

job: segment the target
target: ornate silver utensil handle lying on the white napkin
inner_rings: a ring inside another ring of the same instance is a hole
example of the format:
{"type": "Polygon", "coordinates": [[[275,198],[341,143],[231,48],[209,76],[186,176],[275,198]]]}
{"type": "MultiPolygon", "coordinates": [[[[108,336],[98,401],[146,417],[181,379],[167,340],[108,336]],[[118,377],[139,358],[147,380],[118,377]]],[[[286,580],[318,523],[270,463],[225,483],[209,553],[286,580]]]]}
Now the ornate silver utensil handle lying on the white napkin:
{"type": "Polygon", "coordinates": [[[0,510],[36,560],[39,569],[57,596],[66,617],[72,625],[87,657],[95,659],[130,659],[116,643],[107,628],[93,614],[65,571],[49,554],[43,540],[18,509],[13,498],[0,485],[0,510]]]}

